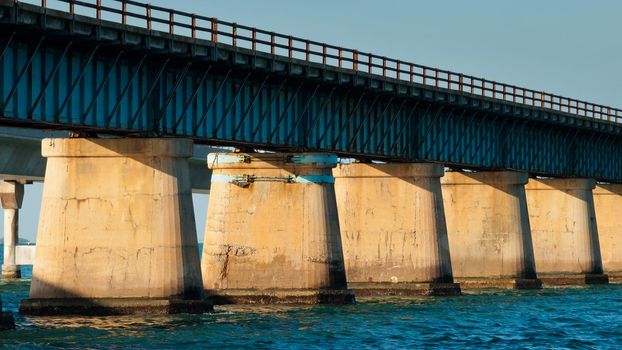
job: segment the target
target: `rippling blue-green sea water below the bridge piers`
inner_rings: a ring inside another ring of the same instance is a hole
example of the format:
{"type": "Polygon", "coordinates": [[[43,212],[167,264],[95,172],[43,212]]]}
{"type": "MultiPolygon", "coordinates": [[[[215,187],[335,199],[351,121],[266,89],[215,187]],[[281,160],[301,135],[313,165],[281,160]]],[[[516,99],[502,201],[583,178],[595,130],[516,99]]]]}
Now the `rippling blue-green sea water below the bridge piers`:
{"type": "Polygon", "coordinates": [[[347,306],[227,306],[204,315],[24,317],[31,269],[0,282],[17,329],[2,348],[620,349],[622,285],[460,297],[360,299],[347,306]]]}

